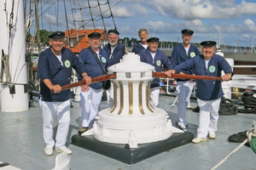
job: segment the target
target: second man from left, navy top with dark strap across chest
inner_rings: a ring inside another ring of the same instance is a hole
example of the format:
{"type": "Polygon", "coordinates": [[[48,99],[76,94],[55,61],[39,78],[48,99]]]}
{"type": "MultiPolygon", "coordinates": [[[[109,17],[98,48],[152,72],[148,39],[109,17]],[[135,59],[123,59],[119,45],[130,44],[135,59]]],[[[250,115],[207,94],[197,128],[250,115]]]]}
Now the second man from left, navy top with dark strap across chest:
{"type": "MultiPolygon", "coordinates": [[[[102,76],[107,71],[108,54],[100,48],[101,36],[99,32],[90,33],[88,35],[90,47],[82,49],[79,54],[79,61],[90,77],[102,76]]],[[[82,127],[79,129],[79,134],[92,127],[102,101],[102,94],[102,82],[85,84],[81,87],[79,106],[82,113],[82,127]]]]}

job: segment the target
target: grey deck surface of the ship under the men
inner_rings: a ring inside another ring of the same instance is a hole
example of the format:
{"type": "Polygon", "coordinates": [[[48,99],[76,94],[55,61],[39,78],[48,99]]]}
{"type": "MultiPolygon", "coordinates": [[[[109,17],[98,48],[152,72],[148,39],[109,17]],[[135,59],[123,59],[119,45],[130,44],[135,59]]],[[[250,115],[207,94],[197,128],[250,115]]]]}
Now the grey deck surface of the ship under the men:
{"type": "MultiPolygon", "coordinates": [[[[177,118],[177,106],[171,107],[174,97],[160,95],[159,107],[165,109],[172,122],[177,118]]],[[[195,99],[191,100],[196,106],[195,99]]],[[[106,108],[106,101],[101,109],[106,108]]],[[[187,110],[189,132],[196,133],[198,113],[187,110]]],[[[72,122],[68,135],[68,147],[73,150],[71,155],[72,170],[207,170],[214,167],[225,156],[230,154],[239,144],[227,141],[230,134],[249,130],[256,120],[256,114],[220,116],[217,139],[207,139],[200,144],[185,144],[173,150],[149,157],[136,164],[125,164],[107,156],[99,155],[70,144],[73,134],[77,133],[81,124],[79,103],[73,101],[71,109],[72,122]]],[[[55,167],[55,156],[44,155],[44,139],[42,133],[42,115],[40,107],[16,113],[0,112],[0,161],[8,162],[23,170],[50,170],[55,167]]],[[[255,170],[256,155],[251,148],[241,147],[234,155],[224,162],[218,170],[255,170]]],[[[0,167],[1,169],[1,167],[0,167]]]]}

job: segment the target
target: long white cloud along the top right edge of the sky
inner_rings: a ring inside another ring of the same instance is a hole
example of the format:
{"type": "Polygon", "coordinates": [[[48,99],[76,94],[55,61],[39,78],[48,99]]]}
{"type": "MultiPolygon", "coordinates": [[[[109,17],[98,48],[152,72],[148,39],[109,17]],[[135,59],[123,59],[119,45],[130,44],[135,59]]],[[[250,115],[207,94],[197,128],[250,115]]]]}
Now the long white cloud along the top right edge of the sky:
{"type": "Polygon", "coordinates": [[[171,14],[179,19],[229,19],[241,14],[256,14],[256,3],[236,5],[234,0],[210,1],[210,0],[153,0],[160,14],[171,14]]]}

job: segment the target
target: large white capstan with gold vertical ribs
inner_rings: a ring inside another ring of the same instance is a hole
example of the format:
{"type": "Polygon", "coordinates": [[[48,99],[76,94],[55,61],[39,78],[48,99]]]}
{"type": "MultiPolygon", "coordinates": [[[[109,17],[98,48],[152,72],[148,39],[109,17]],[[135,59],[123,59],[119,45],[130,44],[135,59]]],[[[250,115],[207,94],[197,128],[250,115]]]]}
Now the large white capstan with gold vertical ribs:
{"type": "Polygon", "coordinates": [[[117,75],[112,80],[113,107],[98,113],[93,136],[103,142],[129,144],[130,148],[171,137],[174,127],[166,111],[149,102],[154,66],[129,53],[108,71],[117,75]]]}

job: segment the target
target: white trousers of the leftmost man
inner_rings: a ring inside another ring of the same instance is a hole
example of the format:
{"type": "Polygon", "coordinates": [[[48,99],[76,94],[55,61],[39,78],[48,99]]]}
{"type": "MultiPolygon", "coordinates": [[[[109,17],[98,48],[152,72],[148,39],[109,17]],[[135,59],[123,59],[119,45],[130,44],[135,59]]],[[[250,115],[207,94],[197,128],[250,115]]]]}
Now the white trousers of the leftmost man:
{"type": "Polygon", "coordinates": [[[43,111],[43,134],[47,147],[64,147],[70,124],[70,100],[64,102],[46,102],[40,100],[43,111]],[[58,125],[56,142],[53,139],[53,127],[58,125]]]}

